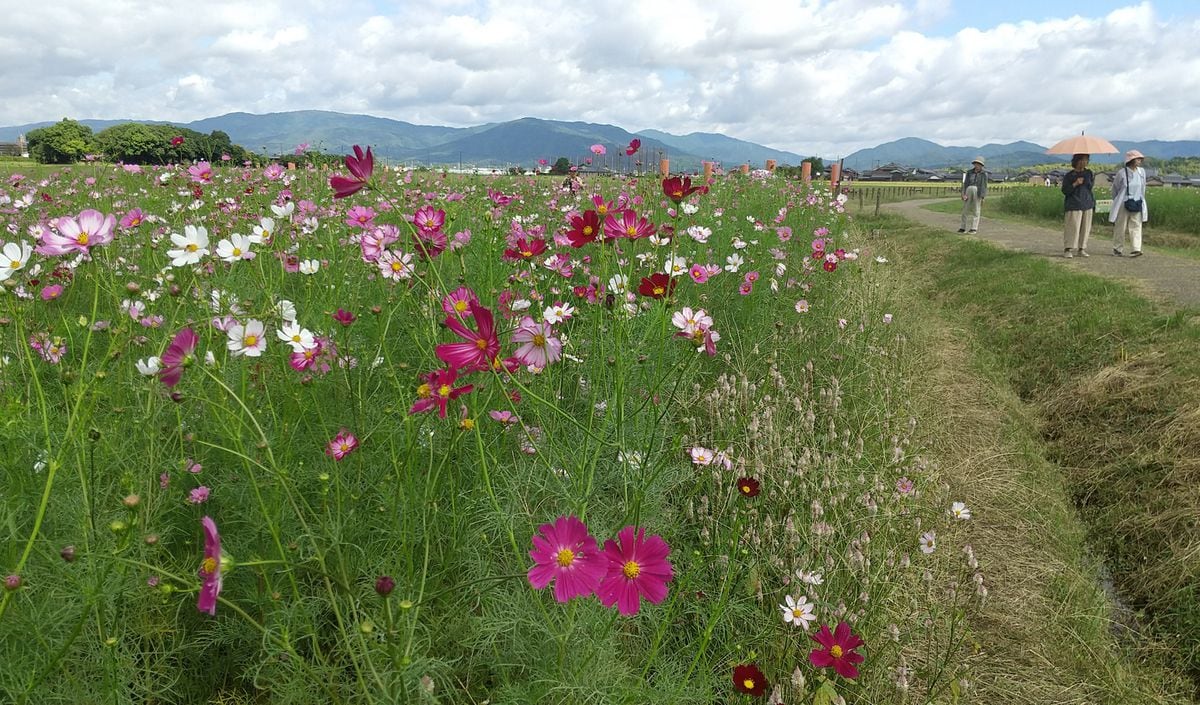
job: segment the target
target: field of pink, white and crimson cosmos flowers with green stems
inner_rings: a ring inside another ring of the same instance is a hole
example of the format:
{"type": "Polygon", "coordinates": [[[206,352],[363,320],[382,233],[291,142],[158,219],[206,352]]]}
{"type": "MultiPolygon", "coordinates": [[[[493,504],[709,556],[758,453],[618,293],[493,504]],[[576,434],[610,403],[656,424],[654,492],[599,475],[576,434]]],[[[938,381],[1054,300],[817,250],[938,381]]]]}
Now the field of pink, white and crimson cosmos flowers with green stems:
{"type": "Polygon", "coordinates": [[[16,173],[0,224],[5,701],[968,680],[971,511],[827,188],[356,147],[16,173]]]}

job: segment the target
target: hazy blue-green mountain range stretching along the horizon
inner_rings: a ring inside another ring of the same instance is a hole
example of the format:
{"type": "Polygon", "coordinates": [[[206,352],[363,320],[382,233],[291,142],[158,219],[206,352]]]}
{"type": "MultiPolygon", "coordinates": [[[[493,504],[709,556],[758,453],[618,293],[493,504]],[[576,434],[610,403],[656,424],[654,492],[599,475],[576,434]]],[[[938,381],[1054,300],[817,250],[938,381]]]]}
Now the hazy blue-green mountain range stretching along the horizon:
{"type": "MultiPolygon", "coordinates": [[[[122,122],[158,122],[146,120],[80,120],[100,132],[122,122]]],[[[52,122],[35,122],[0,127],[0,141],[13,141],[52,122]]],[[[330,153],[347,153],[355,144],[371,145],[374,153],[396,162],[473,165],[473,167],[532,167],[539,159],[554,162],[566,157],[572,163],[593,159],[593,167],[620,169],[656,163],[660,156],[671,159],[673,170],[698,169],[702,161],[722,163],[726,168],[750,163],[761,167],[767,159],[780,164],[799,164],[803,156],[761,144],[734,139],[718,133],[692,132],[678,135],[660,129],[629,132],[613,125],[568,122],[521,118],[508,122],[490,122],[474,127],[443,127],[414,125],[388,118],[332,113],[328,110],[294,110],[289,113],[229,113],[193,122],[174,123],[197,132],[222,131],[250,151],[284,157],[300,144],[308,144],[330,153]],[[631,139],[642,141],[635,157],[625,157],[631,139]],[[595,156],[589,147],[604,145],[607,153],[595,156]]],[[[1136,149],[1147,157],[1200,157],[1200,141],[1128,141],[1114,140],[1122,150],[1136,149]]],[[[906,137],[878,146],[858,150],[845,158],[845,165],[857,170],[872,169],[887,163],[940,169],[964,167],[976,156],[988,161],[990,170],[1020,169],[1049,162],[1067,162],[1067,156],[1051,156],[1045,147],[1031,141],[985,144],[983,146],[943,146],[926,139],[906,137]]],[[[830,161],[826,158],[826,161],[830,161]]],[[[1121,155],[1093,155],[1093,163],[1116,164],[1121,155]]]]}

